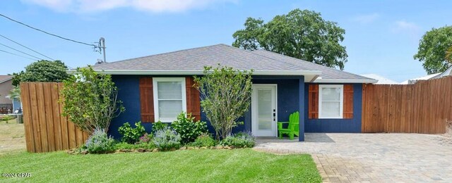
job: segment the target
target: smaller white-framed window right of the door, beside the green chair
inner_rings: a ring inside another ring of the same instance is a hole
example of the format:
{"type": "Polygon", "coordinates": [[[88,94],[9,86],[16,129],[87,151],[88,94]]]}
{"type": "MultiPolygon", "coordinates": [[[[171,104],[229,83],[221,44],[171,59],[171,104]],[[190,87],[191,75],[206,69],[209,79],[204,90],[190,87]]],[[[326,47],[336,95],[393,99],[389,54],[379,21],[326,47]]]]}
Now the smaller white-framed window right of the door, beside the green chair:
{"type": "Polygon", "coordinates": [[[343,118],[344,86],[319,85],[319,118],[343,118]]]}

